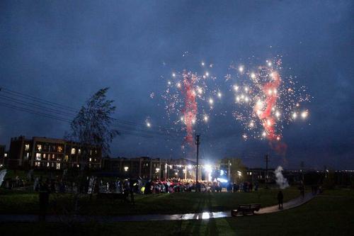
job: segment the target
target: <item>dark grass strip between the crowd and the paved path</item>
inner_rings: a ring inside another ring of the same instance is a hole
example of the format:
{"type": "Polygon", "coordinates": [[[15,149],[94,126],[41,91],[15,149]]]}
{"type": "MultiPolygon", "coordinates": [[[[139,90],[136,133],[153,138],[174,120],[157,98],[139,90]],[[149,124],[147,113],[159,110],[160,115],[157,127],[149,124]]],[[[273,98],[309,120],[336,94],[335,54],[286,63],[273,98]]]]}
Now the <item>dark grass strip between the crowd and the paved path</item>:
{"type": "MultiPolygon", "coordinates": [[[[277,189],[261,189],[252,193],[161,193],[137,195],[135,206],[120,200],[90,200],[83,196],[79,201],[79,213],[83,215],[127,215],[156,213],[200,213],[203,211],[231,210],[241,203],[261,203],[271,206],[277,203],[277,189]]],[[[299,196],[299,191],[284,191],[285,201],[299,196]]],[[[70,194],[52,194],[50,213],[62,214],[63,209],[72,210],[70,194]]],[[[7,192],[0,195],[0,214],[38,213],[38,193],[7,192]]]]}

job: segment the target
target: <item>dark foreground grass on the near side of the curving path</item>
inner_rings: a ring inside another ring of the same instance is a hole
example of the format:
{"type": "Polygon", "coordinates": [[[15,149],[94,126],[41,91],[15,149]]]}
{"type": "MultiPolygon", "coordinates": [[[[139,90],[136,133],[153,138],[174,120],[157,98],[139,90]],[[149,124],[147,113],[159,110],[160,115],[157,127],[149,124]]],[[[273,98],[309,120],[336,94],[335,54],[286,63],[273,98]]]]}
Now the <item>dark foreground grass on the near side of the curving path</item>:
{"type": "Polygon", "coordinates": [[[354,191],[326,191],[323,196],[292,210],[268,215],[215,220],[6,223],[1,235],[354,235],[354,191]]]}

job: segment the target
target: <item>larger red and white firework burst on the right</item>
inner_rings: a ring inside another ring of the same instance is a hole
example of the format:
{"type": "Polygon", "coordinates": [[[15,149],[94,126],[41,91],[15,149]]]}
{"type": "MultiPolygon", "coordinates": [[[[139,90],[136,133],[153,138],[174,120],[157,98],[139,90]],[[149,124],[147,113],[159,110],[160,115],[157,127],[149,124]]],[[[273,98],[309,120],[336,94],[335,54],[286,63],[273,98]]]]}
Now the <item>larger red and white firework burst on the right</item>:
{"type": "MultiPolygon", "coordinates": [[[[249,133],[243,134],[246,140],[249,136],[267,139],[270,145],[284,149],[281,143],[282,128],[300,116],[306,119],[309,111],[299,111],[305,101],[309,101],[304,87],[297,88],[291,76],[283,79],[281,60],[267,60],[266,66],[260,66],[248,71],[244,65],[232,66],[236,71],[237,84],[232,84],[236,109],[234,117],[244,124],[249,133]]],[[[228,74],[227,81],[232,81],[228,74]]]]}

